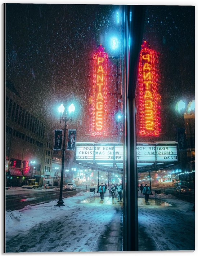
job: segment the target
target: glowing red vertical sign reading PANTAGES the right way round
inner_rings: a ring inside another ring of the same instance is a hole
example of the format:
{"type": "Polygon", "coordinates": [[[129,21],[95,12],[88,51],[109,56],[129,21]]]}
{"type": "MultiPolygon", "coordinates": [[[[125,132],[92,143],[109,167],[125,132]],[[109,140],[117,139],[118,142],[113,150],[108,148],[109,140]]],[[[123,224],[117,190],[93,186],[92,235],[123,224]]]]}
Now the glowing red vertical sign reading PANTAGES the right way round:
{"type": "Polygon", "coordinates": [[[91,136],[107,136],[107,63],[100,45],[94,54],[91,136]]]}

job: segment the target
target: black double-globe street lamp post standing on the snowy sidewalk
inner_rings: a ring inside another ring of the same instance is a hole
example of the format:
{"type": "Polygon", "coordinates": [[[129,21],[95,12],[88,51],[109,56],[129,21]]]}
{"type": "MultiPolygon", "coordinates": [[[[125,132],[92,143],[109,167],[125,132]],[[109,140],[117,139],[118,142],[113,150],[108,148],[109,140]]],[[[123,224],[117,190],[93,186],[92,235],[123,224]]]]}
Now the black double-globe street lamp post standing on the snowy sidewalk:
{"type": "Polygon", "coordinates": [[[67,116],[67,111],[64,112],[64,110],[65,108],[63,104],[61,104],[58,108],[58,111],[60,112],[60,123],[61,123],[61,120],[64,122],[64,136],[63,136],[63,153],[62,153],[62,166],[61,166],[61,176],[60,176],[60,194],[59,194],[59,200],[57,202],[57,206],[64,206],[62,195],[63,195],[63,174],[64,174],[66,130],[67,130],[68,120],[70,119],[70,122],[72,122],[72,113],[75,111],[75,106],[73,105],[73,103],[69,106],[69,113],[71,113],[71,116],[67,116]]]}

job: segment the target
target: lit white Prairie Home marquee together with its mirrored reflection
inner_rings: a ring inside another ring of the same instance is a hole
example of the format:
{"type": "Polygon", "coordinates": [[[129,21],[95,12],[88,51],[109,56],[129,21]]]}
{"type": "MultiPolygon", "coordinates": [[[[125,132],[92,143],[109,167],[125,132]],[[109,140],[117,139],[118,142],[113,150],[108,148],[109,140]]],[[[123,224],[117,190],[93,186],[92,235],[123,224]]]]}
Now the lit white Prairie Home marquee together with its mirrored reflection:
{"type": "MultiPolygon", "coordinates": [[[[124,148],[119,142],[76,142],[74,161],[86,168],[123,173],[124,148]]],[[[177,142],[137,142],[138,172],[170,167],[178,162],[177,142]]]]}

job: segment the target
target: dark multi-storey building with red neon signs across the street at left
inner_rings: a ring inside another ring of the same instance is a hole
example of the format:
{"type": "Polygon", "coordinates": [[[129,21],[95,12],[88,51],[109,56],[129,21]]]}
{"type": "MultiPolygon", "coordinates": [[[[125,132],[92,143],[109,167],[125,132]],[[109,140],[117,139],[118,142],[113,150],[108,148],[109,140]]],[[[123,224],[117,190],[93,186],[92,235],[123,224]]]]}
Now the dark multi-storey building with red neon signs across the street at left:
{"type": "Polygon", "coordinates": [[[24,106],[11,81],[5,95],[6,186],[21,186],[30,178],[42,184],[50,177],[52,141],[39,113],[24,106]]]}

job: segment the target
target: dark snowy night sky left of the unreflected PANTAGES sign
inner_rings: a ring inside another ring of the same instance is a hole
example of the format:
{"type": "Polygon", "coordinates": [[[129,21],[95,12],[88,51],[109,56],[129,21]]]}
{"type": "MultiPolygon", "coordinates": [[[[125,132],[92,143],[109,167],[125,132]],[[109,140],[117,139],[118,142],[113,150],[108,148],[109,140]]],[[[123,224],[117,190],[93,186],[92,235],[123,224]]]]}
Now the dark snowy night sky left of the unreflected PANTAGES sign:
{"type": "Polygon", "coordinates": [[[31,99],[33,108],[42,108],[54,120],[59,103],[74,99],[83,105],[88,101],[88,58],[104,42],[104,31],[113,27],[114,9],[118,7],[6,5],[6,79],[23,99],[28,94],[24,101],[31,99]]]}

